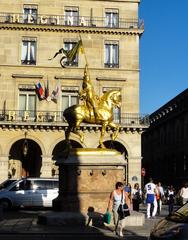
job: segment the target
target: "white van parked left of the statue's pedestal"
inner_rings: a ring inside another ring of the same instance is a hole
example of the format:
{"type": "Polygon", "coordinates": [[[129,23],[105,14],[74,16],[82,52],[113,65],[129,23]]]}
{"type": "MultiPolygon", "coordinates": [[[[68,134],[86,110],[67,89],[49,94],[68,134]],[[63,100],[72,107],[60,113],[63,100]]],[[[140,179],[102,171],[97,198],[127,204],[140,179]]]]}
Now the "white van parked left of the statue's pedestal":
{"type": "Polygon", "coordinates": [[[22,178],[0,191],[0,204],[11,207],[52,207],[58,196],[59,180],[55,178],[22,178]]]}

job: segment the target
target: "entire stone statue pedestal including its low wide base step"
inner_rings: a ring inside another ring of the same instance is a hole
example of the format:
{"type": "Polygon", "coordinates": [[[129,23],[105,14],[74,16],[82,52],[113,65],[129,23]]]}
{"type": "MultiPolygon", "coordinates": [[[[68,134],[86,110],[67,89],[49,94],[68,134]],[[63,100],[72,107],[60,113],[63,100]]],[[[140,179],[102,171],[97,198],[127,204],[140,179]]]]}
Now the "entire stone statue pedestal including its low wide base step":
{"type": "MultiPolygon", "coordinates": [[[[52,212],[38,216],[38,223],[55,226],[103,225],[109,196],[125,178],[124,157],[109,149],[72,149],[59,166],[59,196],[52,212]]],[[[132,212],[127,226],[141,226],[144,214],[132,212]]]]}

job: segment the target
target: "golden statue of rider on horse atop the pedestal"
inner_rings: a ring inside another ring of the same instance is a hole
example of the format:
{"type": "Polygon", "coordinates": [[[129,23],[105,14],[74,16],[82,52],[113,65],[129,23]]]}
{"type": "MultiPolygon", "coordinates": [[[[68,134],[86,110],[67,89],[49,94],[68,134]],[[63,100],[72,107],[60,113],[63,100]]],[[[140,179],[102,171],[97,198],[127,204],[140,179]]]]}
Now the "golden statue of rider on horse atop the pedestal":
{"type": "Polygon", "coordinates": [[[82,90],[79,95],[84,103],[82,105],[78,104],[68,107],[63,113],[63,116],[68,122],[68,128],[65,131],[65,138],[70,145],[70,133],[73,132],[78,135],[80,141],[83,142],[83,133],[78,130],[80,124],[82,122],[100,124],[102,125],[102,130],[99,145],[101,148],[105,148],[103,139],[106,128],[108,126],[113,128],[113,134],[111,135],[112,140],[115,140],[119,132],[119,126],[113,123],[113,107],[120,107],[121,93],[117,90],[111,90],[104,93],[101,97],[98,97],[95,94],[88,74],[88,67],[86,65],[82,90]]]}

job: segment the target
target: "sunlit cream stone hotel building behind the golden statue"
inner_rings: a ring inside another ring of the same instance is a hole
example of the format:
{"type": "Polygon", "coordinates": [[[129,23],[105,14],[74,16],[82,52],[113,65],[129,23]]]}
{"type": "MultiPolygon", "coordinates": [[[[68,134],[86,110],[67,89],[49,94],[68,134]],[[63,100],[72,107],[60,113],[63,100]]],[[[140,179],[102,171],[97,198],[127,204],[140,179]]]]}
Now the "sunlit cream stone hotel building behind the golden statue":
{"type": "MultiPolygon", "coordinates": [[[[120,89],[114,109],[120,132],[104,144],[125,156],[128,182],[141,181],[141,133],[147,118],[139,114],[139,0],[2,0],[0,3],[0,181],[8,176],[54,176],[54,160],[64,149],[63,111],[78,103],[86,60],[98,95],[120,89]],[[82,39],[85,55],[68,64],[59,49],[82,39]],[[86,59],[87,58],[87,59],[86,59]],[[40,83],[39,99],[36,85],[40,83]],[[41,88],[42,87],[42,88],[41,88]]],[[[85,141],[71,135],[73,147],[97,148],[100,126],[82,124],[85,141]]]]}

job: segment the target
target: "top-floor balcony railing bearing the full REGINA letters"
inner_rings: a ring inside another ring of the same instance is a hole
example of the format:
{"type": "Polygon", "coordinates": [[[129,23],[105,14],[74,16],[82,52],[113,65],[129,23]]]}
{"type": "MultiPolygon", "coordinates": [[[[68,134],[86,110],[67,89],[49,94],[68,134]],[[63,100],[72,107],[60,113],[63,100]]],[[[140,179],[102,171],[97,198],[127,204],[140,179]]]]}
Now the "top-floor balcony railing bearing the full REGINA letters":
{"type": "Polygon", "coordinates": [[[65,16],[47,14],[0,13],[0,23],[55,25],[55,26],[82,26],[113,29],[143,29],[143,20],[119,18],[117,24],[109,24],[106,18],[91,16],[65,16]]]}

